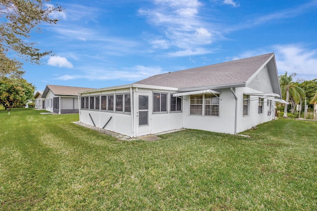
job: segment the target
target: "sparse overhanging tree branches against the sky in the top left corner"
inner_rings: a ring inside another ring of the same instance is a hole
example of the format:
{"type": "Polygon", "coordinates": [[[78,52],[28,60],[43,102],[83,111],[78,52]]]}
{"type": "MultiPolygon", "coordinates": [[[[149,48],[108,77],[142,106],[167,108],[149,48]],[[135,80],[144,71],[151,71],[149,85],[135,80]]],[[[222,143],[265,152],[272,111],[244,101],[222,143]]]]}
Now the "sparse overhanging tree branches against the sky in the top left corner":
{"type": "MultiPolygon", "coordinates": [[[[58,19],[52,18],[54,12],[61,12],[63,8],[47,4],[49,0],[0,0],[0,54],[8,57],[11,51],[16,52],[26,61],[40,64],[40,59],[52,51],[40,52],[36,43],[29,42],[31,32],[41,31],[40,24],[56,24],[58,19]]],[[[6,59],[4,64],[10,62],[19,65],[15,60],[6,59]]],[[[18,68],[19,69],[19,68],[18,68]]],[[[16,70],[16,69],[14,69],[16,70]]],[[[8,71],[8,70],[7,70],[8,71]]]]}

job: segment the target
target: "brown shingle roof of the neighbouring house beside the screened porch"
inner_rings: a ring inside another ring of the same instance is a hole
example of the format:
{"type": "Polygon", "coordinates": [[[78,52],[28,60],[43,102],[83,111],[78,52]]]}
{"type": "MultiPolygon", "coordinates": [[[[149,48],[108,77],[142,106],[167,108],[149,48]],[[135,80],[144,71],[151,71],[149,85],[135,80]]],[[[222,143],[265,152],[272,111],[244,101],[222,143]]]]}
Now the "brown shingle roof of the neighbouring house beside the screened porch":
{"type": "Polygon", "coordinates": [[[64,86],[64,85],[47,85],[45,87],[42,97],[46,97],[49,90],[51,90],[54,95],[77,96],[78,92],[87,91],[90,89],[94,89],[94,88],[64,86]]]}

